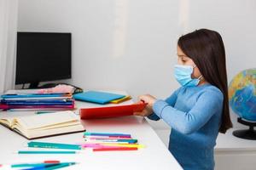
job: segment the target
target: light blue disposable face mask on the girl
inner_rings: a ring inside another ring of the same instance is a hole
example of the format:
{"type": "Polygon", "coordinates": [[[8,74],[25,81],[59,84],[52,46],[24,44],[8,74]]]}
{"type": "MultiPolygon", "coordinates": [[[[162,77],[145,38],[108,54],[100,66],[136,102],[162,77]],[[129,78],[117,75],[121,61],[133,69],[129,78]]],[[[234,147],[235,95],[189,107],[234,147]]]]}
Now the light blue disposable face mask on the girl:
{"type": "Polygon", "coordinates": [[[193,73],[193,69],[195,66],[191,65],[175,65],[174,66],[174,76],[182,86],[184,87],[195,87],[201,80],[199,78],[191,78],[191,74],[193,73]]]}

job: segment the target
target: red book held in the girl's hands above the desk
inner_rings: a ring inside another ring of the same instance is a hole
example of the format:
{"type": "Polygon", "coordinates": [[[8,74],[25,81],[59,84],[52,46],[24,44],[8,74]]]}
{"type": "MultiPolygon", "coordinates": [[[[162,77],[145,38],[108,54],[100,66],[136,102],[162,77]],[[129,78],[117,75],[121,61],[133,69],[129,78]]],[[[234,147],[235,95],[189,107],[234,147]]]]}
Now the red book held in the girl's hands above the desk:
{"type": "Polygon", "coordinates": [[[80,109],[80,117],[81,119],[95,119],[116,116],[131,116],[134,112],[143,111],[146,105],[146,103],[137,103],[132,105],[84,108],[80,109]]]}

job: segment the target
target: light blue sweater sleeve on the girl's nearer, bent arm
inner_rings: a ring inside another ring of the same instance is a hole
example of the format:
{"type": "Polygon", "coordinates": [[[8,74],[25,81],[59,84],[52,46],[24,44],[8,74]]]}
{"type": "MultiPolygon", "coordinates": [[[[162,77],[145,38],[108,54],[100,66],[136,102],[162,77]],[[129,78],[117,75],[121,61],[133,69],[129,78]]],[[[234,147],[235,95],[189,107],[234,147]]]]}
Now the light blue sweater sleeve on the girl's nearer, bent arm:
{"type": "Polygon", "coordinates": [[[190,134],[204,126],[217,111],[221,111],[222,105],[221,92],[207,91],[199,96],[188,112],[179,111],[160,99],[154,103],[153,110],[154,114],[178,132],[190,134]]]}

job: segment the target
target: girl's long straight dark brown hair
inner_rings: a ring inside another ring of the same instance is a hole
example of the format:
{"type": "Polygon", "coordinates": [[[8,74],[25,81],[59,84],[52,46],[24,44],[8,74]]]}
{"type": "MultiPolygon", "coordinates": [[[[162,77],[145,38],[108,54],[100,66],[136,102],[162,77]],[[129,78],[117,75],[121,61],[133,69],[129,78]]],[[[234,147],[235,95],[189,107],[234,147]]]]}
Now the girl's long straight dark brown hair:
{"type": "Polygon", "coordinates": [[[226,59],[222,37],[217,31],[201,29],[180,37],[177,45],[184,54],[193,59],[204,79],[224,94],[222,121],[218,132],[225,133],[232,127],[232,122],[230,121],[226,59]]]}

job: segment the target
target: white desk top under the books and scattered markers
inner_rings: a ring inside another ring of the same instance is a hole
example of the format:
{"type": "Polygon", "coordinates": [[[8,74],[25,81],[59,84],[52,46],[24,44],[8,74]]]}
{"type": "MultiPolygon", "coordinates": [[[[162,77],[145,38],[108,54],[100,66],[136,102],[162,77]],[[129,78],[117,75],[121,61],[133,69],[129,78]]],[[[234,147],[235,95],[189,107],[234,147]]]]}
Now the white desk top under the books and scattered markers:
{"type": "MultiPolygon", "coordinates": [[[[85,102],[76,103],[78,107],[95,106],[95,104],[85,102]]],[[[122,105],[125,104],[131,104],[131,100],[126,101],[122,105]]],[[[19,115],[33,113],[0,112],[1,117],[6,114],[19,115]]],[[[17,150],[26,150],[28,140],[11,132],[8,128],[0,126],[0,164],[60,160],[79,162],[78,165],[67,167],[68,169],[182,169],[143,117],[124,116],[82,122],[88,132],[131,133],[132,137],[138,139],[140,144],[145,144],[146,148],[131,151],[105,152],[93,152],[91,149],[86,149],[76,155],[18,155],[15,152],[17,150]]],[[[84,141],[82,136],[82,133],[73,133],[35,141],[79,144],[84,141]]]]}

